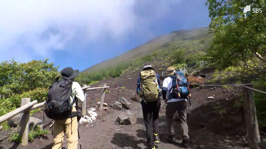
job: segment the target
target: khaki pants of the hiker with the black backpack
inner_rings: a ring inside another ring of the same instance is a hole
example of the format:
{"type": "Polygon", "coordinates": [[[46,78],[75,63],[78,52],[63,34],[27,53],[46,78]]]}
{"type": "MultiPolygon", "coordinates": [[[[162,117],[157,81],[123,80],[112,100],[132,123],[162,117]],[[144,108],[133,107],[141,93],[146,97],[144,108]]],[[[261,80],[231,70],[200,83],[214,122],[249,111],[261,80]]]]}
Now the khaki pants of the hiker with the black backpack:
{"type": "MultiPolygon", "coordinates": [[[[77,111],[73,107],[72,111],[77,111]]],[[[77,117],[65,119],[65,120],[55,120],[53,125],[53,142],[54,145],[52,149],[61,149],[63,145],[64,134],[67,135],[67,148],[77,149],[78,148],[78,121],[77,117]],[[72,124],[71,124],[72,121],[72,124]]]]}

